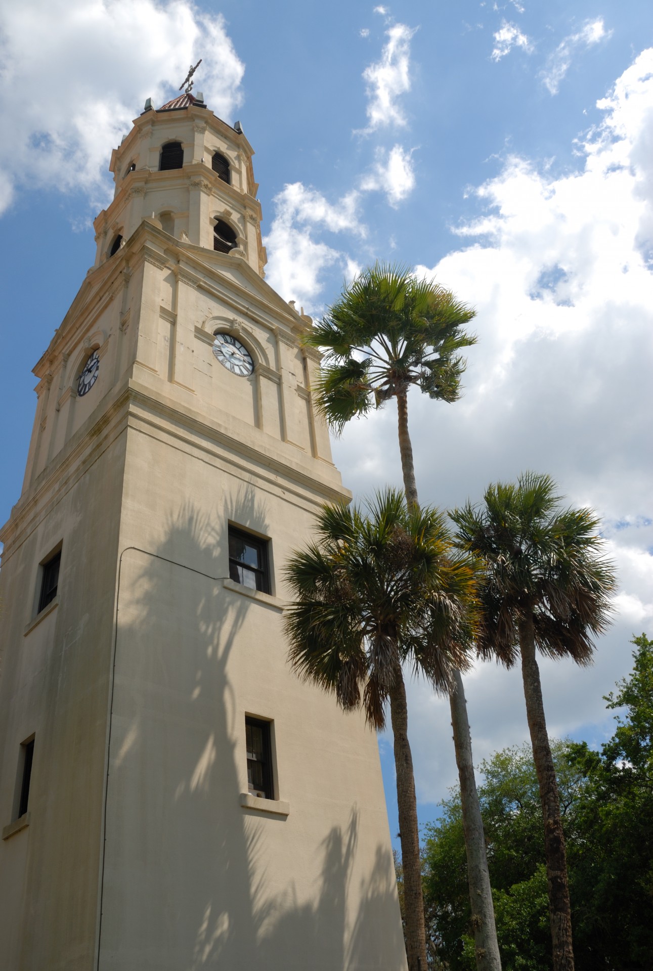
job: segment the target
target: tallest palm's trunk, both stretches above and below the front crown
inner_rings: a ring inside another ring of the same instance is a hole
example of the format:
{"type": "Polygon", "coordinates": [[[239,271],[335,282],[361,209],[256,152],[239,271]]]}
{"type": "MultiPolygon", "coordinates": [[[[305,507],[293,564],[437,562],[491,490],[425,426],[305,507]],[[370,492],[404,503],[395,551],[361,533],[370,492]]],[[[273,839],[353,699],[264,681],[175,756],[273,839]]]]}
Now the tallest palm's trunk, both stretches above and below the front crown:
{"type": "MultiPolygon", "coordinates": [[[[411,506],[419,505],[419,500],[417,483],[415,481],[415,466],[413,464],[413,447],[408,432],[408,401],[406,391],[399,392],[396,395],[396,410],[399,424],[399,452],[401,453],[403,487],[406,493],[406,503],[408,508],[410,508],[411,506]]],[[[467,718],[467,706],[464,700],[463,678],[460,671],[456,671],[454,677],[456,680],[456,690],[452,691],[449,695],[449,701],[451,705],[452,726],[454,729],[456,763],[458,765],[458,775],[461,782],[464,847],[467,854],[467,882],[469,885],[469,900],[471,902],[471,917],[474,929],[476,967],[478,971],[500,971],[501,960],[498,954],[495,910],[492,901],[492,890],[490,889],[488,859],[485,852],[485,834],[483,832],[481,806],[478,801],[476,780],[474,779],[474,763],[471,757],[471,733],[467,718]]],[[[401,687],[403,688],[403,682],[401,687]]],[[[406,744],[408,744],[407,738],[406,744]]],[[[411,780],[414,789],[415,783],[412,774],[412,761],[411,780]]],[[[398,772],[396,784],[398,792],[398,772]]],[[[403,853],[403,845],[401,852],[403,853]]]]}

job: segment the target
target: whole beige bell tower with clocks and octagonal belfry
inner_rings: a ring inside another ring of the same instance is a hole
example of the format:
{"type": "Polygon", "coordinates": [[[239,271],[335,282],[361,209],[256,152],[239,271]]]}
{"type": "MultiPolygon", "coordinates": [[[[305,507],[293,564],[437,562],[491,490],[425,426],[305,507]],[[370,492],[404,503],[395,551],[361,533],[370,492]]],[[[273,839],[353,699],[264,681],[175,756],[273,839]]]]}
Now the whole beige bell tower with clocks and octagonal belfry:
{"type": "Polygon", "coordinates": [[[150,100],[0,531],[3,971],[405,968],[376,739],[286,662],[347,500],[242,127],[150,100]]]}

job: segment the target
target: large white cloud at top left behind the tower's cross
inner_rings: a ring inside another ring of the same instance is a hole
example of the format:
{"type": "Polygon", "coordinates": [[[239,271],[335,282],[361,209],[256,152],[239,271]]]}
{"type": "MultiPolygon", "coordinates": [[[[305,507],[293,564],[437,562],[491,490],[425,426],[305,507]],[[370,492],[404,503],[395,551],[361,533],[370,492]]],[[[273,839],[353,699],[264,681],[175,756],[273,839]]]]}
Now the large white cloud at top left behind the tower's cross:
{"type": "Polygon", "coordinates": [[[27,184],[82,189],[105,204],[111,149],[145,98],[171,97],[200,56],[195,87],[228,119],[244,65],[222,15],[189,0],[5,4],[0,213],[27,184]]]}

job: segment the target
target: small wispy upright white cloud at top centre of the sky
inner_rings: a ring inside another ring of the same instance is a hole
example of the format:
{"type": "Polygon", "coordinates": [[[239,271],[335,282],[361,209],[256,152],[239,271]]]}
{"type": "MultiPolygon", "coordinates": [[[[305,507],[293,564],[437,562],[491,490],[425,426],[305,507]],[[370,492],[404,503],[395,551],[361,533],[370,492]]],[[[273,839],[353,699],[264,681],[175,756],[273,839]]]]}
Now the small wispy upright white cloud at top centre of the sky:
{"type": "MultiPolygon", "coordinates": [[[[385,13],[380,7],[376,11],[385,13]]],[[[389,27],[388,43],[381,51],[381,59],[362,72],[368,98],[368,123],[362,129],[365,134],[391,124],[406,124],[399,99],[410,90],[410,41],[416,30],[405,23],[389,27]]]]}

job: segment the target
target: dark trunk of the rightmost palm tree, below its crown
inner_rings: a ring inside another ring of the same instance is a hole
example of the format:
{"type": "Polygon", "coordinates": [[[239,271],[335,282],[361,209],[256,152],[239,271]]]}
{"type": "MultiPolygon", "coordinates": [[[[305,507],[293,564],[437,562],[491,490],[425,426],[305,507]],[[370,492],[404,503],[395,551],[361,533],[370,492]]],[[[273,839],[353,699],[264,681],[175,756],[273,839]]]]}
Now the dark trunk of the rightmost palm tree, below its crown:
{"type": "Polygon", "coordinates": [[[535,657],[533,615],[520,621],[519,645],[522,654],[526,713],[531,730],[533,760],[537,772],[539,799],[544,820],[544,854],[549,889],[553,971],[573,971],[571,909],[569,907],[565,836],[560,817],[558,781],[549,747],[549,736],[544,718],[544,703],[542,701],[542,686],[535,657]]]}

